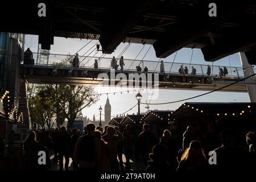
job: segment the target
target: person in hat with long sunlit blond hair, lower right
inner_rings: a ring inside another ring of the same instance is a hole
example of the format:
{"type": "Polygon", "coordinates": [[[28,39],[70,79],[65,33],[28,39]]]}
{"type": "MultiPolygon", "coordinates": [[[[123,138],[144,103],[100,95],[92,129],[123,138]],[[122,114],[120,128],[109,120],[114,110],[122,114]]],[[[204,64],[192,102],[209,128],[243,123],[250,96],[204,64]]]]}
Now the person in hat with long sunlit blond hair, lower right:
{"type": "Polygon", "coordinates": [[[207,158],[199,140],[192,140],[189,147],[181,156],[177,172],[198,172],[204,171],[207,167],[207,158]]]}

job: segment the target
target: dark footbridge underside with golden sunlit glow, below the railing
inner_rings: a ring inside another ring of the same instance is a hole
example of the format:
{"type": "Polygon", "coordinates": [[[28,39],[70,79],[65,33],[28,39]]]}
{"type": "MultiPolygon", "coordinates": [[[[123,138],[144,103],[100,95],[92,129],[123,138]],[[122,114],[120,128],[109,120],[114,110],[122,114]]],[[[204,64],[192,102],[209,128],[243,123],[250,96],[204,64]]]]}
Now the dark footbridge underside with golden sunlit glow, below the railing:
{"type": "MultiPolygon", "coordinates": [[[[211,81],[237,81],[237,77],[205,77],[203,75],[183,75],[179,73],[159,73],[159,82],[154,81],[154,73],[152,73],[152,79],[148,77],[147,81],[132,81],[129,80],[129,75],[142,72],[123,71],[123,74],[127,77],[127,80],[115,79],[112,85],[108,78],[100,78],[98,75],[104,73],[111,77],[110,69],[85,69],[76,68],[70,73],[70,68],[58,68],[57,75],[52,75],[52,70],[55,67],[45,67],[39,65],[22,65],[20,68],[20,76],[26,79],[28,83],[34,84],[68,84],[68,85],[98,85],[98,86],[121,86],[128,87],[142,87],[143,85],[151,86],[152,88],[158,86],[160,89],[183,89],[183,90],[204,90],[210,91],[221,88],[226,84],[212,84],[211,81]],[[84,73],[86,72],[86,74],[84,73]],[[168,76],[167,76],[168,75],[168,76]],[[213,79],[213,80],[212,80],[213,79]],[[129,82],[130,81],[130,82],[129,82]],[[130,85],[129,85],[130,84],[130,85]],[[156,84],[156,86],[154,86],[156,84]]],[[[115,71],[115,76],[121,71],[115,71]]],[[[220,91],[225,92],[247,92],[245,85],[232,85],[220,91]]]]}

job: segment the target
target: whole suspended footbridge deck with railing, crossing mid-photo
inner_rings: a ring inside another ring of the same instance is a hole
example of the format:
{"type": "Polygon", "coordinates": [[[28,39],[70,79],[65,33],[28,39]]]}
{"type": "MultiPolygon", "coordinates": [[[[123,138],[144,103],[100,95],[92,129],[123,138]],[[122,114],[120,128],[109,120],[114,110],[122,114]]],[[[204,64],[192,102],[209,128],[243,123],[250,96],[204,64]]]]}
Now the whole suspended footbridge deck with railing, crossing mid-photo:
{"type": "MultiPolygon", "coordinates": [[[[72,66],[73,57],[70,55],[50,54],[49,56],[34,53],[35,65],[21,64],[20,75],[25,77],[28,82],[38,84],[86,84],[102,85],[102,79],[97,78],[100,73],[107,73],[110,77],[110,57],[89,57],[79,56],[80,64],[78,68],[72,66]],[[38,59],[37,59],[38,58],[38,59]],[[94,68],[94,60],[98,60],[98,69],[94,68]],[[53,73],[55,71],[55,73],[53,73]],[[86,74],[85,74],[86,73],[86,74]]],[[[119,59],[118,63],[119,63],[119,59]]],[[[240,67],[226,67],[228,75],[220,76],[219,70],[223,66],[210,65],[211,74],[207,75],[207,65],[185,64],[185,63],[164,63],[164,73],[160,73],[159,61],[148,60],[130,60],[125,59],[123,71],[129,78],[129,73],[135,73],[137,65],[140,65],[143,71],[148,68],[147,73],[159,73],[159,88],[164,89],[192,89],[192,90],[213,90],[226,84],[212,84],[212,81],[237,81],[243,78],[243,69],[240,67]],[[180,66],[188,68],[188,74],[179,73],[180,66]],[[191,74],[191,68],[196,68],[196,75],[191,74]]],[[[142,72],[137,72],[142,73],[142,72]]],[[[116,80],[117,84],[120,80],[116,80]]],[[[128,82],[128,80],[126,80],[128,82]]],[[[154,81],[153,81],[154,82],[154,81]]],[[[142,83],[141,83],[142,84],[142,83]]],[[[127,84],[128,85],[128,84],[127,84]]],[[[153,84],[154,85],[154,84],[153,84]]],[[[247,92],[245,85],[232,85],[222,90],[228,92],[247,92]]]]}

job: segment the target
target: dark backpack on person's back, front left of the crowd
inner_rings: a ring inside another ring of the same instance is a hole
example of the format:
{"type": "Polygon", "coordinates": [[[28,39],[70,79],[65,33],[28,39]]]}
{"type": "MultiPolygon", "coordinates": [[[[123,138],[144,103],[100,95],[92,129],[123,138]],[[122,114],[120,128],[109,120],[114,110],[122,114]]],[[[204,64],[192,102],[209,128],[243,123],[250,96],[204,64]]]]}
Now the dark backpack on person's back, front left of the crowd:
{"type": "Polygon", "coordinates": [[[84,162],[93,162],[96,159],[96,148],[94,137],[90,135],[85,135],[81,139],[79,147],[79,160],[84,162]]]}

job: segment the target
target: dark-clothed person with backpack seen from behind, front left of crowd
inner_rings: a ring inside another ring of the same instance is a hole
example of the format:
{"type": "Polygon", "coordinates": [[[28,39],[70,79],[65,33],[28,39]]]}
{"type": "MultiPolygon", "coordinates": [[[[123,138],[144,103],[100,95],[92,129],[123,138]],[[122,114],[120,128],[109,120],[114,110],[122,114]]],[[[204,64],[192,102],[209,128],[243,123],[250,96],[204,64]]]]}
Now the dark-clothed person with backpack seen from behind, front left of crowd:
{"type": "Polygon", "coordinates": [[[76,143],[74,159],[79,165],[79,171],[97,170],[100,160],[101,142],[94,137],[95,125],[89,123],[86,125],[88,134],[81,136],[76,143]]]}

